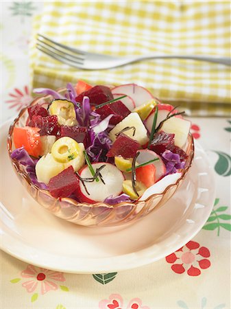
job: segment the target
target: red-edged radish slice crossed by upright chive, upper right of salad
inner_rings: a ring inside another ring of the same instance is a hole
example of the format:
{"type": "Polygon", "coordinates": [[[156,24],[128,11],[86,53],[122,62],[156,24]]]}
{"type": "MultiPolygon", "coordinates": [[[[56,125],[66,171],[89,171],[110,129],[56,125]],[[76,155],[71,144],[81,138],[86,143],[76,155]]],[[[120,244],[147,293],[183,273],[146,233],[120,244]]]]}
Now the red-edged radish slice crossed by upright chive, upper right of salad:
{"type": "MultiPolygon", "coordinates": [[[[156,128],[158,127],[160,122],[162,122],[162,120],[164,120],[167,117],[168,113],[173,111],[173,108],[174,107],[170,104],[158,104],[158,115],[157,115],[157,120],[156,120],[156,128]]],[[[178,111],[174,109],[173,113],[178,113],[178,111]]],[[[155,108],[145,120],[145,126],[147,130],[149,131],[149,133],[151,133],[152,124],[154,122],[154,115],[155,115],[155,108]]],[[[182,118],[182,115],[177,115],[175,117],[182,118]]]]}

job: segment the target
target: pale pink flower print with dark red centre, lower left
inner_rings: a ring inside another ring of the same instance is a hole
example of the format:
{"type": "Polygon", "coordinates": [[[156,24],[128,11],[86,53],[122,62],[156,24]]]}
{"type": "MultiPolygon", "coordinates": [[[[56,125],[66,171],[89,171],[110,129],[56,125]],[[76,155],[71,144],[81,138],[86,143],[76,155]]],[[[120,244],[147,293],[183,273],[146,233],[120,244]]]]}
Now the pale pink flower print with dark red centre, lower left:
{"type": "Polygon", "coordinates": [[[49,271],[48,269],[32,265],[28,265],[27,268],[21,272],[21,276],[28,279],[22,284],[23,288],[26,288],[28,293],[33,293],[38,287],[42,295],[49,292],[49,290],[58,290],[56,282],[66,281],[64,275],[58,271],[49,271]]]}

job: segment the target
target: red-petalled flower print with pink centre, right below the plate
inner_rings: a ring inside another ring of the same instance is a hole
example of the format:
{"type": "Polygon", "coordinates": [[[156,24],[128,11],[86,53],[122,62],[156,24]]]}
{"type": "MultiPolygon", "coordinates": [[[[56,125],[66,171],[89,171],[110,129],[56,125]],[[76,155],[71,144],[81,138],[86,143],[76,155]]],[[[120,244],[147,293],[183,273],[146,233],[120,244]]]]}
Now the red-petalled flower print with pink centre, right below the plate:
{"type": "Polygon", "coordinates": [[[210,267],[210,251],[206,247],[199,247],[198,242],[192,240],[175,253],[168,255],[165,260],[173,264],[171,269],[175,273],[187,271],[189,276],[198,276],[202,269],[210,267]]]}

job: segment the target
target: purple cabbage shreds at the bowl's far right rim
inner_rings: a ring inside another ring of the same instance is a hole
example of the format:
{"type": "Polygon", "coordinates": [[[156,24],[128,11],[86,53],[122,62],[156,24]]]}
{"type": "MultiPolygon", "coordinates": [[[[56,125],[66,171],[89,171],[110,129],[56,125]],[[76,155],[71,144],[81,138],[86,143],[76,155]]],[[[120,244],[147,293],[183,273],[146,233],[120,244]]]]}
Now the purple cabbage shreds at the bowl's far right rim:
{"type": "Polygon", "coordinates": [[[166,175],[174,174],[178,172],[178,170],[184,168],[185,161],[181,161],[180,155],[177,153],[171,152],[171,150],[165,150],[161,156],[165,162],[166,175]]]}

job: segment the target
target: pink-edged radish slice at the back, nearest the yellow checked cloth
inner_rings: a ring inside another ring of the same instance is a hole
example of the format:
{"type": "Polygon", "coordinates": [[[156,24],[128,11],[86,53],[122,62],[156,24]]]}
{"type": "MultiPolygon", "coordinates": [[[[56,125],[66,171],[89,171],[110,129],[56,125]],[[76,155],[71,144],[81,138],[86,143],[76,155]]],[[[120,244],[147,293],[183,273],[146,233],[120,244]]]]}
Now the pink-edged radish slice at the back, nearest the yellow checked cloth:
{"type": "Polygon", "coordinates": [[[154,99],[154,96],[147,89],[137,84],[122,84],[121,86],[114,87],[112,94],[114,95],[114,93],[128,95],[134,101],[134,107],[141,106],[154,99]]]}

